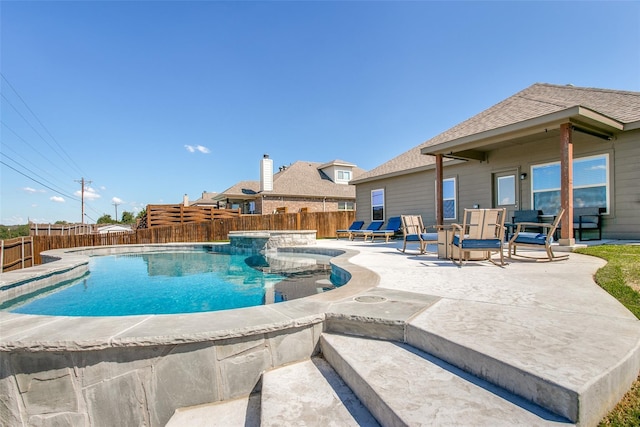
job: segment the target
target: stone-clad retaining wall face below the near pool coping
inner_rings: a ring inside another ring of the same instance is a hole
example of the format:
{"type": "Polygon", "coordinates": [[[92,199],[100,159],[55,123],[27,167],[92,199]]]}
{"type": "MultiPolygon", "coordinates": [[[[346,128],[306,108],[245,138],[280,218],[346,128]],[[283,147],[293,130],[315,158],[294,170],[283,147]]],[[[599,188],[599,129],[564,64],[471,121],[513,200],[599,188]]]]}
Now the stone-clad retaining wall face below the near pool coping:
{"type": "Polygon", "coordinates": [[[323,318],[226,340],[0,353],[0,425],[163,426],[180,407],[246,396],[318,352],[323,318]]]}

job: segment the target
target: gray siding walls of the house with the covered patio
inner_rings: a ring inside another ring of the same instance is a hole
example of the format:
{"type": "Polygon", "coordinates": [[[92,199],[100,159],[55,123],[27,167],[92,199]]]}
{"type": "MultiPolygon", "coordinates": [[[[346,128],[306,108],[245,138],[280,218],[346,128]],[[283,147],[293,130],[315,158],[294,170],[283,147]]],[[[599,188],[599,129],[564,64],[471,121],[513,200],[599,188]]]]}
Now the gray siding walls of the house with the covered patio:
{"type": "MultiPolygon", "coordinates": [[[[604,219],[603,238],[640,239],[640,131],[614,141],[573,133],[574,157],[609,154],[611,212],[604,219]]],[[[484,162],[468,161],[444,167],[444,178],[456,178],[457,221],[464,208],[493,206],[493,174],[518,169],[520,209],[531,209],[531,166],[559,160],[557,131],[543,139],[514,142],[488,152],[484,162]]],[[[371,220],[371,190],[385,189],[385,219],[401,214],[421,214],[425,225],[435,224],[435,171],[407,174],[356,185],[358,219],[371,220]]],[[[507,218],[510,218],[511,212],[507,218]]],[[[449,222],[449,221],[448,221],[449,222]]]]}

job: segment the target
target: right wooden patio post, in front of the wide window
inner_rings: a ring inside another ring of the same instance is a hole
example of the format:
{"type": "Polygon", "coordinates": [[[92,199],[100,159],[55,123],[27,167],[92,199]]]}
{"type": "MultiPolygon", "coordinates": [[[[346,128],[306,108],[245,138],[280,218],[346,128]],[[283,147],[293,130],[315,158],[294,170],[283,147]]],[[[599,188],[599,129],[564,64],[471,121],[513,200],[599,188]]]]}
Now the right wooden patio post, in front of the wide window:
{"type": "Polygon", "coordinates": [[[560,244],[573,246],[573,130],[571,123],[560,125],[560,206],[564,216],[560,221],[560,244]]]}

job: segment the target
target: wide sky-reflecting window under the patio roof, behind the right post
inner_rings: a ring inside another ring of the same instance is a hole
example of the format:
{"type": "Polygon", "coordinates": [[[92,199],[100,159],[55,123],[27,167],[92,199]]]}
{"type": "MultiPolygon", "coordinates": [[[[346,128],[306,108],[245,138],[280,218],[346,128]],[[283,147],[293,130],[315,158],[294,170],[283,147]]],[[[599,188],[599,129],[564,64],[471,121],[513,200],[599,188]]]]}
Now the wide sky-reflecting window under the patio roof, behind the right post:
{"type": "MultiPolygon", "coordinates": [[[[531,168],[533,208],[545,214],[560,209],[560,162],[531,168]]],[[[573,205],[609,210],[609,155],[573,160],[573,205]]]]}

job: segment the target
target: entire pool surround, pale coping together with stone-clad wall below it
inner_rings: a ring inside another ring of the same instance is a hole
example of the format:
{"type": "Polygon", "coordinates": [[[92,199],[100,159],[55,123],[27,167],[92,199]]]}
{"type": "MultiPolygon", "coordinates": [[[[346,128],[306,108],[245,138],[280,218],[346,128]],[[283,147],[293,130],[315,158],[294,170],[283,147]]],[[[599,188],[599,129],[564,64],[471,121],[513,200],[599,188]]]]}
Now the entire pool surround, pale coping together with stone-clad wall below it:
{"type": "MultiPolygon", "coordinates": [[[[53,280],[81,272],[87,255],[185,246],[48,251],[58,260],[34,268],[53,280]]],[[[318,352],[332,301],[378,283],[377,275],[349,263],[353,252],[301,250],[337,255],[332,268],[351,280],[301,300],[222,312],[94,318],[0,312],[0,425],[162,426],[176,408],[257,391],[265,370],[318,352]]],[[[27,270],[12,283],[38,281],[27,270]]]]}

